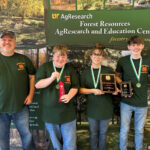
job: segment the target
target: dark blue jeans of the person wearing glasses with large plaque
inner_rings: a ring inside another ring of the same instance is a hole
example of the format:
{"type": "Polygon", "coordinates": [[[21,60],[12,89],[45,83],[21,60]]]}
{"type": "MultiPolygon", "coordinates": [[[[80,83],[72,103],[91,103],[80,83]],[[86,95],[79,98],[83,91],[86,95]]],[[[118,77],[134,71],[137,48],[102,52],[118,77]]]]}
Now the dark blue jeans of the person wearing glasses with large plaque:
{"type": "Polygon", "coordinates": [[[88,118],[90,127],[90,145],[91,150],[105,150],[107,130],[110,119],[108,120],[96,120],[88,118]]]}

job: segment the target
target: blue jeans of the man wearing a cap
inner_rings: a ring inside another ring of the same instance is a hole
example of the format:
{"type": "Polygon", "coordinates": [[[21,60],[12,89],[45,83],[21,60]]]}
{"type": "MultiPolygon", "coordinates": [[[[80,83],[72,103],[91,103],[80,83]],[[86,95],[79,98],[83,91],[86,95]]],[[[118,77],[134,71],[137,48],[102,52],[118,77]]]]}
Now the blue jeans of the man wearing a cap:
{"type": "Polygon", "coordinates": [[[11,120],[19,131],[23,149],[32,150],[34,144],[29,130],[29,110],[27,106],[18,113],[0,113],[0,150],[9,150],[11,120]]]}

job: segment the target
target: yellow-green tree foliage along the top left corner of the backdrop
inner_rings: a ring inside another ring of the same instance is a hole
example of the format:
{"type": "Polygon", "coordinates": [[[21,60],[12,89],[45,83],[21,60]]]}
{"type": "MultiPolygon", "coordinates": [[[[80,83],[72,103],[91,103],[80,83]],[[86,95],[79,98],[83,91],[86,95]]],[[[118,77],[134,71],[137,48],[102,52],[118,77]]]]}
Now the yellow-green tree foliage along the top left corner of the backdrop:
{"type": "Polygon", "coordinates": [[[22,18],[42,17],[44,15],[43,0],[8,0],[5,9],[1,5],[3,15],[22,18]]]}

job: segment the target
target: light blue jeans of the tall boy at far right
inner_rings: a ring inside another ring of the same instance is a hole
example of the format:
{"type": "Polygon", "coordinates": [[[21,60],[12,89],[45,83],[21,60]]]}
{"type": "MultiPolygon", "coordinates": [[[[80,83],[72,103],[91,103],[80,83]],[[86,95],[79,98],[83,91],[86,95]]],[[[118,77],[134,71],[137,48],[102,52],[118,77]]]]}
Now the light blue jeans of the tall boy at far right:
{"type": "Polygon", "coordinates": [[[120,149],[127,150],[128,131],[132,112],[134,112],[134,129],[135,129],[135,149],[143,148],[144,124],[147,116],[147,107],[133,107],[121,103],[121,129],[120,129],[120,149]]]}

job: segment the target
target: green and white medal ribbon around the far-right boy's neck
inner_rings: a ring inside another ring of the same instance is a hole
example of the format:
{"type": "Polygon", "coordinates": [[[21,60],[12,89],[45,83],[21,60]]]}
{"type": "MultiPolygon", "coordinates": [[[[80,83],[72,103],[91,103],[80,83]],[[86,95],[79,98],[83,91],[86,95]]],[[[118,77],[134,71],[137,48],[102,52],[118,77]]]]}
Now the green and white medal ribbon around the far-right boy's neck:
{"type": "Polygon", "coordinates": [[[141,56],[140,63],[139,63],[139,70],[138,70],[138,73],[137,73],[137,70],[136,70],[136,68],[135,68],[135,65],[134,65],[134,62],[133,62],[131,56],[130,56],[130,62],[131,62],[132,68],[133,68],[133,70],[134,70],[135,76],[136,76],[138,82],[140,82],[141,69],[142,69],[142,56],[141,56]]]}

